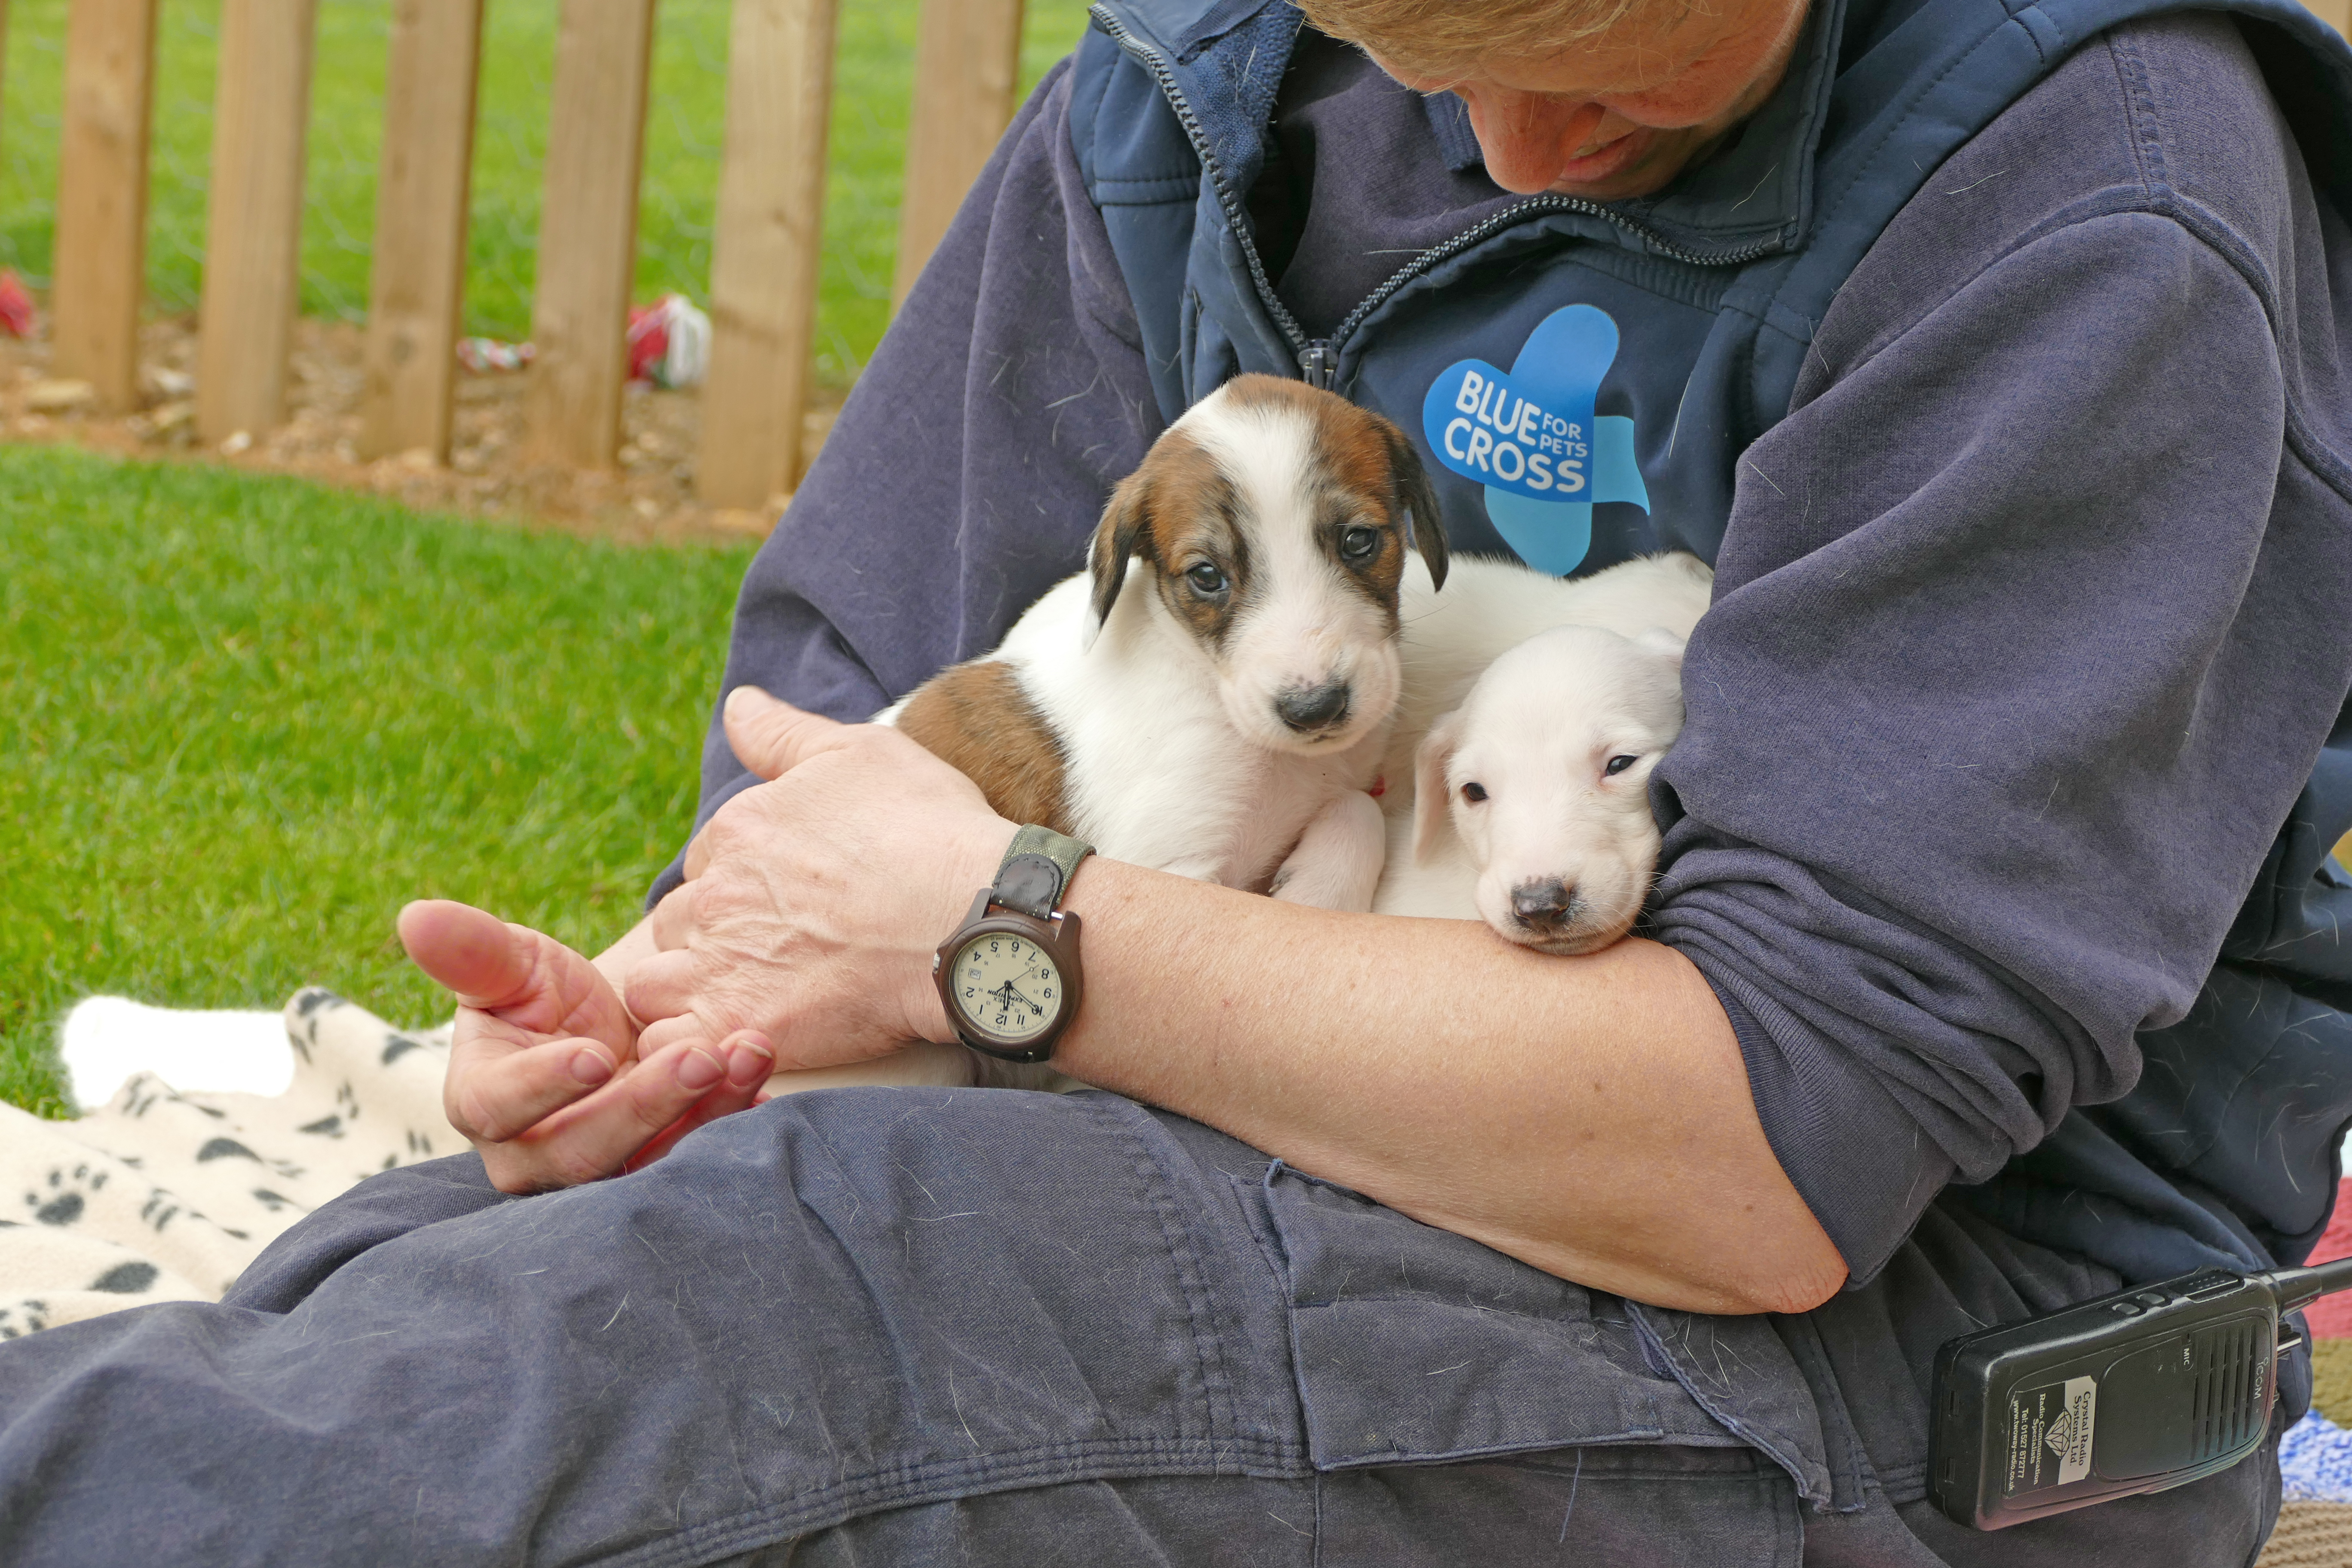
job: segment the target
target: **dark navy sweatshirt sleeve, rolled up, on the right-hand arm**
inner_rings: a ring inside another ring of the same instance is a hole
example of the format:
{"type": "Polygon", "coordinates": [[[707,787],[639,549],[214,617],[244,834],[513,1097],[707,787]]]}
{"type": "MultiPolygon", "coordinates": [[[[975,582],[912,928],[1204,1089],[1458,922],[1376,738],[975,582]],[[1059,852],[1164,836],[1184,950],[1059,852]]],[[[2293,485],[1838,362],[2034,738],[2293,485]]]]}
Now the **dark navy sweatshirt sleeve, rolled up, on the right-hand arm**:
{"type": "Polygon", "coordinates": [[[1740,458],[1658,771],[1656,936],[1856,1284],[2133,1086],[2343,701],[2230,261],[2110,214],[1905,308],[1740,458]]]}

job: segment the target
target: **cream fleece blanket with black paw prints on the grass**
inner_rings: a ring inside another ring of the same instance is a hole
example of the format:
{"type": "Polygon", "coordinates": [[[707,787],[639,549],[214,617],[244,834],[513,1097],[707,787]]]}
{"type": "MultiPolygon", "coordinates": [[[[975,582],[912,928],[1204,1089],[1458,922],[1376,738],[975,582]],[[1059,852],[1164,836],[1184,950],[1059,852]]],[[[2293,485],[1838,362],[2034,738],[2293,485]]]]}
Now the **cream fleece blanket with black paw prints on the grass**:
{"type": "Polygon", "coordinates": [[[440,1107],[447,1030],[395,1030],[325,990],[282,1020],[96,997],[64,1056],[75,1100],[101,1105],[78,1121],[0,1105],[0,1340],[219,1300],[327,1199],[466,1147],[440,1107]]]}

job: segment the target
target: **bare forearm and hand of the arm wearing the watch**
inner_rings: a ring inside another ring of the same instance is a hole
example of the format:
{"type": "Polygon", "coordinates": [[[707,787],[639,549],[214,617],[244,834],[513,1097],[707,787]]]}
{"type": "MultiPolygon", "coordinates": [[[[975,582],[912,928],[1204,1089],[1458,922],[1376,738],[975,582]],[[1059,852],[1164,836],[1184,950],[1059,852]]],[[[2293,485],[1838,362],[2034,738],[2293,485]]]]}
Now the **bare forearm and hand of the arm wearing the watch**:
{"type": "MultiPolygon", "coordinates": [[[[953,1039],[934,945],[1014,825],[903,733],[750,689],[774,785],[715,816],[654,914],[640,1041],[762,1030],[781,1067],[953,1039]]],[[[1108,858],[1068,907],[1087,994],[1056,1065],[1602,1291],[1804,1309],[1844,1260],[1780,1173],[1738,1041],[1653,943],[1564,959],[1475,922],[1336,914],[1108,858]]]]}

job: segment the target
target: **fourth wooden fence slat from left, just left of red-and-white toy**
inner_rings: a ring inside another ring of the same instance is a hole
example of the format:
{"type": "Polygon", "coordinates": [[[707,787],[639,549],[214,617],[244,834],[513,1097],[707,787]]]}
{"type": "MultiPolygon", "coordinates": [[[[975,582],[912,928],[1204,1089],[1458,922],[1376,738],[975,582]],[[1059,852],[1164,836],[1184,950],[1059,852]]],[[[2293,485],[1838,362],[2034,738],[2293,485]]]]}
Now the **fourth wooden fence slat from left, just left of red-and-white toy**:
{"type": "Polygon", "coordinates": [[[654,0],[564,0],[532,299],[529,447],[541,461],[612,468],[621,444],[652,56],[654,0]]]}

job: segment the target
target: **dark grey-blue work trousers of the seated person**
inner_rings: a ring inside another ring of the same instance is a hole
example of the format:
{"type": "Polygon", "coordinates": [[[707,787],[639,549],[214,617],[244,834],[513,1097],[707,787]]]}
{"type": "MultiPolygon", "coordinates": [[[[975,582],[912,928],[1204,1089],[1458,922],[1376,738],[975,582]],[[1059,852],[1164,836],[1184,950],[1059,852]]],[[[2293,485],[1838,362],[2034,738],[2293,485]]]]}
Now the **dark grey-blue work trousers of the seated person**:
{"type": "Polygon", "coordinates": [[[1957,1225],[1708,1319],[1115,1095],[793,1095],[569,1192],[393,1171],[221,1305],[0,1345],[0,1563],[2249,1563],[2267,1453],[1919,1500],[1919,1347],[2002,1262],[1957,1225]]]}

